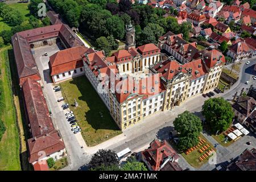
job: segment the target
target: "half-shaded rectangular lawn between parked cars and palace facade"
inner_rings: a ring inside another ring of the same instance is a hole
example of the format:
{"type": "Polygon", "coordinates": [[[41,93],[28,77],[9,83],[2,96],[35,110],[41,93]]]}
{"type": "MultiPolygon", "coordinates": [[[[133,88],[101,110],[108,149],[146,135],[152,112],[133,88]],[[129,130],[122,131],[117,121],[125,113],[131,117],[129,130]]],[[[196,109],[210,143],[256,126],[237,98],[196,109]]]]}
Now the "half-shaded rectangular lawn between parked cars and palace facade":
{"type": "Polygon", "coordinates": [[[69,103],[82,129],[82,137],[89,147],[122,133],[85,76],[61,82],[60,86],[65,101],[69,103]],[[78,107],[74,106],[74,98],[79,104],[78,107]]]}

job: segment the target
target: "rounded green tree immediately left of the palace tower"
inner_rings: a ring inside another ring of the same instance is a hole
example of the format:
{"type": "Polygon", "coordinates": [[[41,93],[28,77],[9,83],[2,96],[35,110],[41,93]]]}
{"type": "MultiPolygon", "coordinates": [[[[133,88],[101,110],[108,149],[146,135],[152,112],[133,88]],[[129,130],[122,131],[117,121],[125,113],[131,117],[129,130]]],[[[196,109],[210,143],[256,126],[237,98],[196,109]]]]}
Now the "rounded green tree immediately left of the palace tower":
{"type": "Polygon", "coordinates": [[[125,36],[125,24],[119,16],[114,15],[106,19],[106,35],[113,35],[116,39],[125,36]]]}

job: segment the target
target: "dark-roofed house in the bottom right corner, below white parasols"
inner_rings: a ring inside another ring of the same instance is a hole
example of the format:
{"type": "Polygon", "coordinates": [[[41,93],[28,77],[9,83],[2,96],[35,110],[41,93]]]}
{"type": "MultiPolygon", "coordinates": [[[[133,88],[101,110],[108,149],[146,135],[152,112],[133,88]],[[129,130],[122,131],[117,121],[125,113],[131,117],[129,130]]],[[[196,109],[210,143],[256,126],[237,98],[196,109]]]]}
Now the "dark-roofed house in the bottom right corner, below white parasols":
{"type": "Polygon", "coordinates": [[[256,171],[256,149],[246,148],[227,168],[227,171],[256,171]]]}

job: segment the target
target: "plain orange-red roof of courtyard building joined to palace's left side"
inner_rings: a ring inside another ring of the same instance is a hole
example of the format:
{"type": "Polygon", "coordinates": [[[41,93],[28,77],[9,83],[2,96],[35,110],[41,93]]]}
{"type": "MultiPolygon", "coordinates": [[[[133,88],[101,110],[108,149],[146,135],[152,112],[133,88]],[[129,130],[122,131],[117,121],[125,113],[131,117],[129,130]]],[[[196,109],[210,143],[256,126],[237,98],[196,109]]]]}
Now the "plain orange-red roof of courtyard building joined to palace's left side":
{"type": "Polygon", "coordinates": [[[77,46],[56,52],[49,57],[51,76],[83,67],[82,54],[88,50],[85,46],[77,46]]]}

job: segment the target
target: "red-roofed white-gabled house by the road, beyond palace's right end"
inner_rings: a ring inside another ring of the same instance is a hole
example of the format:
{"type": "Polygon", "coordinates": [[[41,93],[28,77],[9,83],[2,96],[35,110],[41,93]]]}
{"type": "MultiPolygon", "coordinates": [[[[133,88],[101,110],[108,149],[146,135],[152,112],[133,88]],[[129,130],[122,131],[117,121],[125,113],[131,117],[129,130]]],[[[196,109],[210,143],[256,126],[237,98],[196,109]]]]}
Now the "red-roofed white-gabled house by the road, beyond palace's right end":
{"type": "Polygon", "coordinates": [[[226,54],[235,61],[248,59],[251,56],[251,48],[247,45],[245,40],[243,40],[230,46],[226,54]]]}

